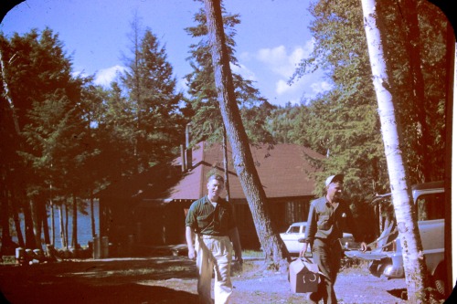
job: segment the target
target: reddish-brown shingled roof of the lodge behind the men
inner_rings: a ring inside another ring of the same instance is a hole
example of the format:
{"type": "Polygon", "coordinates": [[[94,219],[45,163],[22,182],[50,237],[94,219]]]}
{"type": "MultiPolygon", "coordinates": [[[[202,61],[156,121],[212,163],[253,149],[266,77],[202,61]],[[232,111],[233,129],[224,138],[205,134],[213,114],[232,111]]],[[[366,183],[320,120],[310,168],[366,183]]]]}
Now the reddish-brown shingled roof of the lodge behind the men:
{"type": "MultiPolygon", "coordinates": [[[[285,143],[250,146],[250,151],[268,198],[313,195],[314,181],[310,180],[307,173],[315,172],[316,169],[306,160],[305,155],[314,159],[322,159],[324,155],[299,145],[285,143]]],[[[230,147],[228,147],[228,160],[230,198],[244,199],[245,195],[239,178],[231,163],[230,147]]],[[[175,165],[180,163],[180,158],[175,160],[175,165]]],[[[196,200],[207,194],[206,182],[211,170],[217,170],[223,176],[221,144],[215,143],[209,146],[200,142],[193,149],[192,169],[185,173],[183,179],[173,189],[170,189],[168,198],[196,200]]]]}

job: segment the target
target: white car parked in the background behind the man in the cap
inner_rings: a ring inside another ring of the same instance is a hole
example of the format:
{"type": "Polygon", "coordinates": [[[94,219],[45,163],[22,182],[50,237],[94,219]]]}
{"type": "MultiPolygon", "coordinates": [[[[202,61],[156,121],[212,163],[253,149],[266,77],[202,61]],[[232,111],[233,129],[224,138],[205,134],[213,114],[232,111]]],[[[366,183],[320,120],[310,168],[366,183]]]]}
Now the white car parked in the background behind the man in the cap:
{"type": "MultiPolygon", "coordinates": [[[[308,225],[306,222],[293,223],[289,226],[289,229],[287,229],[286,232],[280,234],[282,241],[284,242],[290,254],[299,254],[302,250],[306,225],[308,225]],[[300,242],[301,239],[302,242],[300,242]]],[[[340,239],[340,243],[344,250],[352,248],[357,244],[354,241],[354,236],[349,233],[343,234],[343,238],[340,239]]],[[[311,248],[308,246],[308,251],[311,252],[310,250],[311,248]]]]}

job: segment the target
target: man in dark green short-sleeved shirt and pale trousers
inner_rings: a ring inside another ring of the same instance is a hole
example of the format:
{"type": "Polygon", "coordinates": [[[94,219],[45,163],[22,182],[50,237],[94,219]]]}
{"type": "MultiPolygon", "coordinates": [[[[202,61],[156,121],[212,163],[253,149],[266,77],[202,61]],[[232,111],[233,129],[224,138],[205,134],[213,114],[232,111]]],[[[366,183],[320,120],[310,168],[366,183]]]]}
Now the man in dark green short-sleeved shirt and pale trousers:
{"type": "Polygon", "coordinates": [[[188,256],[197,260],[197,291],[200,303],[205,304],[213,303],[211,299],[213,270],[215,304],[228,303],[232,293],[230,265],[233,248],[235,248],[236,260],[242,263],[233,208],[226,200],[219,197],[223,189],[222,176],[211,175],[207,180],[207,195],[192,203],[186,216],[188,256]]]}

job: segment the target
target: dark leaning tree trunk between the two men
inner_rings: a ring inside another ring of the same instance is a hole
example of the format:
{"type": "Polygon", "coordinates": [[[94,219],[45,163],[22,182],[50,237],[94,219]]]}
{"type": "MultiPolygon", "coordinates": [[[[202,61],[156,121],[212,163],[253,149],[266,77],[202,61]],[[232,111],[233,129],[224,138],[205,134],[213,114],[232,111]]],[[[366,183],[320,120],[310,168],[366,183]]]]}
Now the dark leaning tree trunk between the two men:
{"type": "Polygon", "coordinates": [[[266,204],[267,197],[261,187],[260,178],[250,153],[248,136],[244,130],[235,98],[220,1],[205,0],[205,7],[218,101],[232,149],[233,164],[250,204],[250,212],[265,256],[272,266],[285,270],[287,262],[290,260],[289,253],[282,239],[274,233],[266,204]]]}

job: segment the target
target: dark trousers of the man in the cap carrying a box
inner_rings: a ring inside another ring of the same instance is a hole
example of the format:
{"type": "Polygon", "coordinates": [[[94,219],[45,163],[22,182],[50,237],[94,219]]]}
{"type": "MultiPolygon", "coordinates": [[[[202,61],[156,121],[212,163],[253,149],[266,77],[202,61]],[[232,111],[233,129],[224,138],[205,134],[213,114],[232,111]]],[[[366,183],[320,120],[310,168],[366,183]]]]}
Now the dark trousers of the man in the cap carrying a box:
{"type": "Polygon", "coordinates": [[[321,283],[317,292],[311,295],[312,299],[323,299],[326,304],[336,304],[334,286],[341,266],[341,255],[341,245],[337,239],[333,242],[314,239],[313,260],[324,276],[321,275],[321,283]]]}

